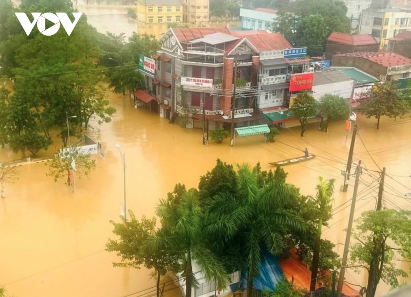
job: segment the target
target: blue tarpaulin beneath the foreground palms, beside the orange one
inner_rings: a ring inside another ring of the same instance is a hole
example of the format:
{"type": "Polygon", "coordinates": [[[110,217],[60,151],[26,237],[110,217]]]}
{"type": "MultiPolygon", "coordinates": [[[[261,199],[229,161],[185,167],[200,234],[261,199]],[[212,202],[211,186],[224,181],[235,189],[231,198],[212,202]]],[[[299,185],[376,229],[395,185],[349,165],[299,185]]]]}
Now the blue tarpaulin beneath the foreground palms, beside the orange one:
{"type": "MultiPolygon", "coordinates": [[[[259,275],[254,277],[253,287],[257,291],[274,291],[275,286],[284,279],[283,272],[276,257],[269,253],[264,253],[264,258],[260,263],[259,275]]],[[[247,272],[241,274],[240,282],[230,286],[231,292],[247,289],[247,272]]]]}

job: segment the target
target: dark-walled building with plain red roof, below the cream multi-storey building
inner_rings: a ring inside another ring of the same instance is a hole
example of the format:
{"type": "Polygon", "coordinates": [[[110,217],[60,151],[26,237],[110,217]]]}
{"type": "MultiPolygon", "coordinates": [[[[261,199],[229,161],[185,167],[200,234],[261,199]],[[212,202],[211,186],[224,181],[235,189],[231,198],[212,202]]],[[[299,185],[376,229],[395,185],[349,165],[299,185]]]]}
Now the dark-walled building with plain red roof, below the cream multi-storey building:
{"type": "Polygon", "coordinates": [[[379,42],[371,34],[352,35],[332,32],[327,39],[326,56],[354,52],[377,52],[379,42]]]}

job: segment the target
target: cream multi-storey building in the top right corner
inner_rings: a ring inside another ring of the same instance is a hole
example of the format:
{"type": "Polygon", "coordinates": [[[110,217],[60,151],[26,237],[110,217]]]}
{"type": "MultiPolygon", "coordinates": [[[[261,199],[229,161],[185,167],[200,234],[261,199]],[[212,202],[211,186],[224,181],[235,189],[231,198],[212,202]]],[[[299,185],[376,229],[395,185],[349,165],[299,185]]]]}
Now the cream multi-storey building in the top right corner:
{"type": "Polygon", "coordinates": [[[405,30],[411,30],[411,10],[386,8],[362,11],[359,33],[375,37],[380,49],[388,49],[387,39],[405,30]]]}

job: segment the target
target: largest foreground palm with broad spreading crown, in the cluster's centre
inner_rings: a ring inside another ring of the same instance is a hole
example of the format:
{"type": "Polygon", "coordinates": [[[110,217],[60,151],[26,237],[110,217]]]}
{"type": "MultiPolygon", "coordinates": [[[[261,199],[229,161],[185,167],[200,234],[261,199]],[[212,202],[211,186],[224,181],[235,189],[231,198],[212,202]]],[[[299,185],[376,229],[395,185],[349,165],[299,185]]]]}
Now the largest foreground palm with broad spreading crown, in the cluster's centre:
{"type": "Polygon", "coordinates": [[[228,241],[242,233],[247,254],[247,297],[259,274],[262,247],[279,255],[290,231],[304,229],[304,220],[288,207],[298,190],[281,181],[258,187],[257,175],[247,164],[237,165],[237,193],[214,196],[206,206],[206,232],[228,241]]]}

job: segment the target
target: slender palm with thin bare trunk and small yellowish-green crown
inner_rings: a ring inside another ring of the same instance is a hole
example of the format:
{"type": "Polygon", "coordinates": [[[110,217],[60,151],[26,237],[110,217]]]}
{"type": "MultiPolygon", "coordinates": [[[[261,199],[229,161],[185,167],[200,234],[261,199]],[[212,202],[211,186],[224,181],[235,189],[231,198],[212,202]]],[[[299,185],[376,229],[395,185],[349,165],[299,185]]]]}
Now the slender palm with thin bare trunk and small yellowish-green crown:
{"type": "Polygon", "coordinates": [[[332,196],[334,195],[335,182],[335,179],[329,179],[328,181],[324,181],[322,176],[320,176],[318,179],[320,181],[320,183],[316,187],[316,203],[318,205],[318,226],[311,263],[311,282],[309,286],[309,291],[311,294],[313,294],[313,292],[315,291],[315,285],[317,283],[318,264],[320,261],[321,229],[323,226],[323,219],[324,217],[329,216],[329,213],[331,212],[330,202],[332,196]]]}

